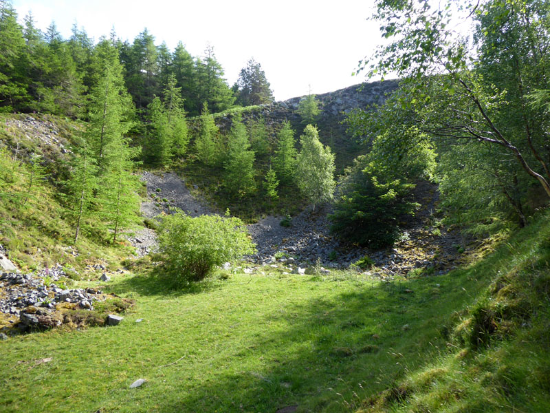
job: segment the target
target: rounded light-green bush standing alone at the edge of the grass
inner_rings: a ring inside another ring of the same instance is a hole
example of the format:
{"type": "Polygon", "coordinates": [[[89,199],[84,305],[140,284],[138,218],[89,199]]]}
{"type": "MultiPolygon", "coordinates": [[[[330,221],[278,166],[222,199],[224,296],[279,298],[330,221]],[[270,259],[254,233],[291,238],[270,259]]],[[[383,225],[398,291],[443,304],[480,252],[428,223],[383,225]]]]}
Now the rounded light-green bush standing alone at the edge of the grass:
{"type": "Polygon", "coordinates": [[[200,281],[215,266],[254,253],[255,248],[239,218],[191,218],[179,211],[163,218],[159,250],[166,274],[177,284],[188,284],[200,281]]]}

